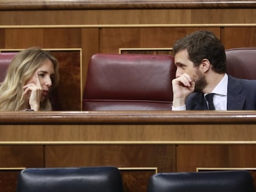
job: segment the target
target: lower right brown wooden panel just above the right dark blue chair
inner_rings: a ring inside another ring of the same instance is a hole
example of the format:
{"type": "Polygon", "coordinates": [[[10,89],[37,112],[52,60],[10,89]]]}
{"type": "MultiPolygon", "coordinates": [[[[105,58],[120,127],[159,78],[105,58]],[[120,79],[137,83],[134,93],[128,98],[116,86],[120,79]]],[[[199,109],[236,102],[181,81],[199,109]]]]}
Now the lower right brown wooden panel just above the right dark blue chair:
{"type": "Polygon", "coordinates": [[[194,172],[197,168],[256,168],[255,145],[179,145],[177,172],[194,172]]]}

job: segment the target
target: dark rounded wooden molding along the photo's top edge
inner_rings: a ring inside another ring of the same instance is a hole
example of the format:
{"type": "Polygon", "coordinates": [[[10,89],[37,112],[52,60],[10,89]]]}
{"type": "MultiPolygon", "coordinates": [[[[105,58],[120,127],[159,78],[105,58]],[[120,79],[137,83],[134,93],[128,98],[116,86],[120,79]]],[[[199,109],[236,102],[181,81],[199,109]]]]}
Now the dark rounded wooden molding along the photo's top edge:
{"type": "Polygon", "coordinates": [[[255,8],[256,1],[218,0],[0,0],[0,10],[255,8]]]}

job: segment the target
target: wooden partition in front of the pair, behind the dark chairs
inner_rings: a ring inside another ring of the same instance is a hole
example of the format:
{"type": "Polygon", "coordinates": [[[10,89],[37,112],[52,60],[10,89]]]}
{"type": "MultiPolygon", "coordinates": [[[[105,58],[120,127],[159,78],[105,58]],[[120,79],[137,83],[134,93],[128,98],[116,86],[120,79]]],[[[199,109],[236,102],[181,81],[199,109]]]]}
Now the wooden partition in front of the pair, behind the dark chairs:
{"type": "Polygon", "coordinates": [[[0,113],[6,191],[14,191],[24,167],[113,165],[127,192],[146,192],[156,172],[247,169],[255,175],[255,150],[254,111],[0,113]]]}

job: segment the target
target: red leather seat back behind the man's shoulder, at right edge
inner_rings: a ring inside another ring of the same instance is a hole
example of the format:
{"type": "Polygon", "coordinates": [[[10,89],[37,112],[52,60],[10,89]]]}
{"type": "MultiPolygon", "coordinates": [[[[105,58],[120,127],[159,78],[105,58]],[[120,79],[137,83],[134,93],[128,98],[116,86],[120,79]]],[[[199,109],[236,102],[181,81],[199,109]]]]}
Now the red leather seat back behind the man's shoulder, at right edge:
{"type": "Polygon", "coordinates": [[[227,73],[237,78],[255,80],[256,48],[226,50],[227,73]]]}

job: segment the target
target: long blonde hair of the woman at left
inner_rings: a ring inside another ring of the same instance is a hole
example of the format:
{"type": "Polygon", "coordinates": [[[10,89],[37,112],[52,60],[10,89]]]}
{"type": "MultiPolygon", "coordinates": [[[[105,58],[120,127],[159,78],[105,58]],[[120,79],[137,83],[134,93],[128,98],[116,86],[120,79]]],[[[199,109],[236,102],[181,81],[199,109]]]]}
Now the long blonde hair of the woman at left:
{"type": "MultiPolygon", "coordinates": [[[[59,83],[59,62],[48,51],[40,48],[28,48],[20,51],[7,69],[7,75],[0,84],[0,111],[20,111],[25,99],[23,86],[33,76],[36,70],[49,59],[54,65],[52,88],[59,83]]],[[[50,111],[49,98],[40,102],[40,111],[50,111]]]]}

